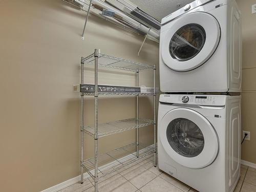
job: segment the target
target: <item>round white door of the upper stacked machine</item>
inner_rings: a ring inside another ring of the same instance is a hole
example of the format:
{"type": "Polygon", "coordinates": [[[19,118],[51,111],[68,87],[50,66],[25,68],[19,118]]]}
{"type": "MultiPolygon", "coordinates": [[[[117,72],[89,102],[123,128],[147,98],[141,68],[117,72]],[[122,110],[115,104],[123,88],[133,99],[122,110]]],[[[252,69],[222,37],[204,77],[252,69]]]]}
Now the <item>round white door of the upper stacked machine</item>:
{"type": "Polygon", "coordinates": [[[162,60],[174,71],[196,69],[215,52],[220,36],[220,25],[214,16],[205,12],[181,16],[162,37],[162,60]]]}

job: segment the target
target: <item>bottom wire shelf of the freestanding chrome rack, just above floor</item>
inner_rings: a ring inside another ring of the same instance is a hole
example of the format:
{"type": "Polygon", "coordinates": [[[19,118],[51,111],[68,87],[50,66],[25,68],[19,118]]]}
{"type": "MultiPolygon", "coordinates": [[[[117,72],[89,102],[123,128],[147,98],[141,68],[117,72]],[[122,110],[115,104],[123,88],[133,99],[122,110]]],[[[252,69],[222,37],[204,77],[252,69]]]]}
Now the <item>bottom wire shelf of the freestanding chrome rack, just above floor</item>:
{"type": "MultiPolygon", "coordinates": [[[[115,150],[98,156],[98,173],[99,179],[117,172],[121,168],[139,162],[142,158],[151,157],[154,154],[154,147],[145,144],[139,144],[139,157],[136,156],[137,144],[132,143],[115,150]]],[[[94,179],[94,158],[86,159],[82,166],[88,174],[94,179]]]]}

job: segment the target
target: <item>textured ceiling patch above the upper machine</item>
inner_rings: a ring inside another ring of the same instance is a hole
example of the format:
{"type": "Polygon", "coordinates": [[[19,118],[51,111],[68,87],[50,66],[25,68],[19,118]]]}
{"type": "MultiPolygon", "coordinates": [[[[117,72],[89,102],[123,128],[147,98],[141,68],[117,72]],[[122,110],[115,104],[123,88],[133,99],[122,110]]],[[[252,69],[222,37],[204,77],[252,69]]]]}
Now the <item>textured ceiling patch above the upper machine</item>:
{"type": "MultiPolygon", "coordinates": [[[[137,5],[141,10],[147,12],[151,16],[160,20],[166,15],[173,13],[193,2],[194,0],[129,0],[133,4],[137,5]],[[180,7],[178,8],[178,5],[180,7]]],[[[129,2],[127,1],[127,2],[129,2]]]]}

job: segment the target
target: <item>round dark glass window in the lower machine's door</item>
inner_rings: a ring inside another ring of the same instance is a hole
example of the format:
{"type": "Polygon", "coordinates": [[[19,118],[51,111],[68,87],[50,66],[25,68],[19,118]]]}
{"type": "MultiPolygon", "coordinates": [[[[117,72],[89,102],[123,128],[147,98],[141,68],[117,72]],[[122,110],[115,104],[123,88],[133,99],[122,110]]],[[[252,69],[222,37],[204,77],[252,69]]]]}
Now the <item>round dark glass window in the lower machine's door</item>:
{"type": "Polygon", "coordinates": [[[166,137],[173,150],[184,157],[196,157],[203,151],[203,133],[189,119],[172,120],[167,126],[166,137]]]}

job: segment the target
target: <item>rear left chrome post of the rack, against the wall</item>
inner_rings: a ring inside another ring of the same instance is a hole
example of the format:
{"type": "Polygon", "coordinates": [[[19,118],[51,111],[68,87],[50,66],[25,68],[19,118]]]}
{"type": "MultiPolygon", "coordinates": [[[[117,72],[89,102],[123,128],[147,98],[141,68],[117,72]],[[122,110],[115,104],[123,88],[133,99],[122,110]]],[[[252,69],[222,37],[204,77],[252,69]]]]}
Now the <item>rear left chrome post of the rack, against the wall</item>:
{"type": "MultiPolygon", "coordinates": [[[[81,84],[83,84],[83,57],[81,57],[81,84]]],[[[81,126],[80,126],[80,132],[81,132],[81,161],[80,161],[80,172],[81,172],[81,180],[80,183],[83,183],[83,130],[84,130],[84,119],[83,119],[83,95],[81,94],[81,126]]]]}

